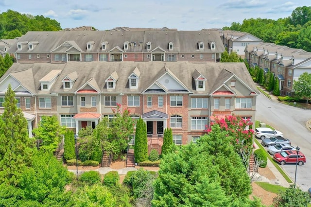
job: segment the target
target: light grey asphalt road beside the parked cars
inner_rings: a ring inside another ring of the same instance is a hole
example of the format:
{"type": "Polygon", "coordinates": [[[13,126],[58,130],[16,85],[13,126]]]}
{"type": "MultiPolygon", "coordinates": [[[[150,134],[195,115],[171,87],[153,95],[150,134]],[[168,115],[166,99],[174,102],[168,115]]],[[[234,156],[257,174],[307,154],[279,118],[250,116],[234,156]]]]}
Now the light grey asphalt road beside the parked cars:
{"type": "MultiPolygon", "coordinates": [[[[311,110],[277,103],[260,94],[257,96],[256,120],[281,131],[293,146],[300,147],[307,162],[297,166],[296,184],[304,191],[311,188],[311,132],[306,127],[306,122],[311,120],[311,110]]],[[[285,164],[281,167],[294,181],[296,165],[285,164]]]]}

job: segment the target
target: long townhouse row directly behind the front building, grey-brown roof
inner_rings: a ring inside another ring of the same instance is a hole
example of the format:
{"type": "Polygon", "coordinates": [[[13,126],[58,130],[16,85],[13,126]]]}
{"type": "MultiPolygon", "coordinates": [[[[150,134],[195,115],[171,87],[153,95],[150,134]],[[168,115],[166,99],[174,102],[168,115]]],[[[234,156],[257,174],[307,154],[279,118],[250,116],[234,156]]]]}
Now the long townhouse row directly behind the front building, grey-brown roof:
{"type": "Polygon", "coordinates": [[[28,32],[8,53],[18,63],[219,62],[224,51],[215,31],[153,30],[28,32]]]}

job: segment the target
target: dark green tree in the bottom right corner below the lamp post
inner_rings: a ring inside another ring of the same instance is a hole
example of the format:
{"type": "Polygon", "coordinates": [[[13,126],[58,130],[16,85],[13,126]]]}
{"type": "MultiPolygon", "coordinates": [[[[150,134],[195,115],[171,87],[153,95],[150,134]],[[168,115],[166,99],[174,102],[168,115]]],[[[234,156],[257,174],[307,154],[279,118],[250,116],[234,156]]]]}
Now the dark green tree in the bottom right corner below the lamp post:
{"type": "Polygon", "coordinates": [[[309,194],[292,184],[285,191],[281,191],[274,199],[277,207],[306,207],[311,202],[309,194]]]}

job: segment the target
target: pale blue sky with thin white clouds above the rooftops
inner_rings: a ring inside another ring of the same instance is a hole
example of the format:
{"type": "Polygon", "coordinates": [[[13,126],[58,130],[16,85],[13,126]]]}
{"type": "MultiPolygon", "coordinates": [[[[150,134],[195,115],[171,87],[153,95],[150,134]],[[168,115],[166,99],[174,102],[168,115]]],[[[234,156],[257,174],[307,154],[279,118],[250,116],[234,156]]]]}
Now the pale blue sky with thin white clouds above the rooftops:
{"type": "Polygon", "coordinates": [[[0,0],[0,13],[43,15],[62,29],[93,26],[202,30],[223,28],[243,19],[291,16],[311,0],[0,0]]]}

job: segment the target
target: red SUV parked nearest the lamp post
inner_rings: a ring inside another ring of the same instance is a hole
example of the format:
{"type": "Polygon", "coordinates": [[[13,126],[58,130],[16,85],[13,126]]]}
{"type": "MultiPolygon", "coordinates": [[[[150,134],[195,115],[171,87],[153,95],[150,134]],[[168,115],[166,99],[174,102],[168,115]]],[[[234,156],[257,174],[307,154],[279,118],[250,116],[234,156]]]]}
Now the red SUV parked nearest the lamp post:
{"type": "MultiPolygon", "coordinates": [[[[296,163],[297,152],[294,150],[290,150],[276,153],[273,155],[273,159],[281,165],[285,165],[285,163],[296,163]]],[[[306,157],[301,152],[299,152],[297,164],[303,165],[304,163],[306,163],[306,157]]]]}

